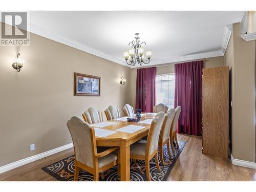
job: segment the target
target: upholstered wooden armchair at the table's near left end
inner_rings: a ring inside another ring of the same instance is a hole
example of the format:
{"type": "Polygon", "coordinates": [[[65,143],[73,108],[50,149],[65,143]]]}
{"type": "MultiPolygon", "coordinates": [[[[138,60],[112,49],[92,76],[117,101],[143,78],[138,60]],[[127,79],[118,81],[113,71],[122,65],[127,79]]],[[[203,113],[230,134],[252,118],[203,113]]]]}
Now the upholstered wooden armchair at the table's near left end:
{"type": "Polygon", "coordinates": [[[117,147],[111,147],[98,152],[94,128],[78,116],[73,116],[67,122],[75,151],[75,175],[78,180],[79,171],[86,170],[94,175],[94,181],[99,180],[99,173],[118,164],[118,155],[113,153],[117,147]]]}

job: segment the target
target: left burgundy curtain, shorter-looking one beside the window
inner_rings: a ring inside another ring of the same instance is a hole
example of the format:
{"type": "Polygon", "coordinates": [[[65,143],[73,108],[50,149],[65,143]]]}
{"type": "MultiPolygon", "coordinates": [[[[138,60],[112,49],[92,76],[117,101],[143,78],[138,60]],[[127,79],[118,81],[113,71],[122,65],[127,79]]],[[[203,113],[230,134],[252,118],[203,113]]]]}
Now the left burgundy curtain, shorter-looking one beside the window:
{"type": "Polygon", "coordinates": [[[156,104],[156,67],[137,69],[136,109],[153,112],[156,104]]]}

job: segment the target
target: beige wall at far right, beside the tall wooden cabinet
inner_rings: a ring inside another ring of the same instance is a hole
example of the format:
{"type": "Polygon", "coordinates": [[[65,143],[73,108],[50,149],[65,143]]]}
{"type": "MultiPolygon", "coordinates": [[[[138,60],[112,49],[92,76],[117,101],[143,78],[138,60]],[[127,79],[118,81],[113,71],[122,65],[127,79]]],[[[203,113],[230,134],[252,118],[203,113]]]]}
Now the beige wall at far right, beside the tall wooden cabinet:
{"type": "Polygon", "coordinates": [[[231,76],[232,155],[251,162],[255,161],[254,45],[255,41],[240,37],[240,24],[234,24],[224,56],[231,76]]]}

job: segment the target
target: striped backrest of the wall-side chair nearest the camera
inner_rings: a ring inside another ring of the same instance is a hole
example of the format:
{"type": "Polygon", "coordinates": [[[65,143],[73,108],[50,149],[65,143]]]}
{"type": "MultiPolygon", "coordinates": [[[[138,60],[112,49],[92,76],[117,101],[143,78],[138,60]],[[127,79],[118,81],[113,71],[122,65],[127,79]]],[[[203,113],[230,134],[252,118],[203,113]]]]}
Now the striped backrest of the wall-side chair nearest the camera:
{"type": "Polygon", "coordinates": [[[84,121],[89,124],[102,122],[102,112],[96,108],[89,108],[82,114],[84,121]]]}

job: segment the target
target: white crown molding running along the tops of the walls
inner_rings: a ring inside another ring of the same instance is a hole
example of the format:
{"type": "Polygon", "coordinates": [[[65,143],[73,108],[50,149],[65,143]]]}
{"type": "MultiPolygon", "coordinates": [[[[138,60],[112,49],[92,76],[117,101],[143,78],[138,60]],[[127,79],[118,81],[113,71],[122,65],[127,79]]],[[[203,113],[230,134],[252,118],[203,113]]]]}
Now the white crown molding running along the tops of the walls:
{"type": "MultiPolygon", "coordinates": [[[[9,24],[9,25],[12,25],[11,20],[6,20],[5,23],[9,24]]],[[[98,50],[95,50],[91,47],[88,47],[84,44],[73,41],[73,40],[68,39],[66,37],[63,37],[59,34],[55,34],[55,33],[51,32],[51,31],[49,31],[45,28],[42,28],[42,27],[37,26],[35,24],[32,24],[30,22],[28,24],[28,29],[27,30],[31,33],[34,33],[34,34],[40,35],[42,37],[46,37],[48,39],[60,42],[61,44],[64,44],[64,45],[73,47],[75,49],[90,53],[92,55],[96,55],[98,57],[101,57],[101,58],[106,59],[106,60],[110,60],[112,62],[116,62],[120,65],[125,66],[125,67],[136,68],[135,66],[134,67],[128,66],[124,59],[122,60],[120,58],[112,57],[111,55],[102,53],[98,50]]],[[[187,60],[195,60],[195,59],[203,59],[203,58],[209,58],[209,57],[223,56],[226,52],[231,34],[232,34],[232,25],[227,25],[225,27],[225,31],[224,31],[224,35],[223,35],[222,47],[219,51],[212,51],[212,52],[205,52],[205,53],[198,53],[198,54],[190,54],[190,55],[184,55],[184,56],[180,56],[180,57],[170,57],[170,58],[163,58],[163,59],[157,59],[157,60],[155,60],[153,58],[151,60],[151,62],[146,66],[153,66],[153,65],[163,64],[163,63],[181,62],[181,61],[187,61],[187,60]]],[[[256,33],[254,35],[256,37],[256,33]]],[[[251,35],[251,37],[248,37],[248,39],[249,38],[253,38],[253,36],[251,35]]]]}

